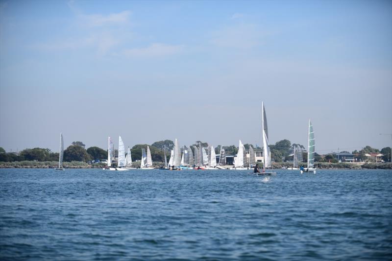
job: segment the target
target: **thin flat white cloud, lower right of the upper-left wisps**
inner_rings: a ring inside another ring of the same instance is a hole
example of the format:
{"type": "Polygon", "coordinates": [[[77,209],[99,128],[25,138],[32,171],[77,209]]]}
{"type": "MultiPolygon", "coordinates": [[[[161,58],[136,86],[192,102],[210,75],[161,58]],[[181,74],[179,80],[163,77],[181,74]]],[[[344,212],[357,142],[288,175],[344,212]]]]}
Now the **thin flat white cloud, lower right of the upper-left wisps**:
{"type": "Polygon", "coordinates": [[[123,51],[123,53],[129,57],[154,57],[177,54],[183,49],[183,45],[165,45],[154,43],[144,48],[126,49],[123,51]]]}

